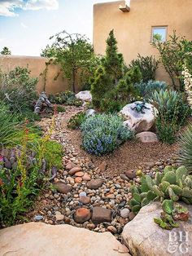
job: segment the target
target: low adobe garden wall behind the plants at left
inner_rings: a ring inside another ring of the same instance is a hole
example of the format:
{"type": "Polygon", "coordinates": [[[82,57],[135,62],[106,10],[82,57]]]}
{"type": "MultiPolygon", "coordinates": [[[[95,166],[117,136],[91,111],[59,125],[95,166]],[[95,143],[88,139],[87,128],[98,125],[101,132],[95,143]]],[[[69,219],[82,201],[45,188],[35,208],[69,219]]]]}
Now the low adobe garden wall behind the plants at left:
{"type": "MultiPolygon", "coordinates": [[[[32,77],[38,77],[37,90],[41,92],[44,88],[44,75],[46,62],[48,59],[43,57],[31,57],[31,56],[14,56],[14,55],[1,55],[0,56],[0,69],[7,72],[11,71],[17,66],[28,67],[31,71],[32,77]]],[[[55,94],[63,90],[68,90],[68,80],[63,78],[63,73],[60,72],[58,65],[50,64],[46,75],[46,92],[47,94],[55,94]],[[54,77],[59,73],[59,77],[55,80],[54,77]]]]}

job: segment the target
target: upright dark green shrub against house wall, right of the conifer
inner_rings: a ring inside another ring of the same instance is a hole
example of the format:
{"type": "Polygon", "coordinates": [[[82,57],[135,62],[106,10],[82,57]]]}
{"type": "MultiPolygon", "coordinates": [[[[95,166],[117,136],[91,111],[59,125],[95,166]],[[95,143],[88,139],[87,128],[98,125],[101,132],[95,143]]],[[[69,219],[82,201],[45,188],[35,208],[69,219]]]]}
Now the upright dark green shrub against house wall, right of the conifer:
{"type": "Polygon", "coordinates": [[[158,68],[159,61],[155,60],[153,56],[143,57],[141,55],[137,56],[137,60],[132,60],[129,64],[129,68],[138,67],[142,73],[143,82],[148,82],[149,80],[155,80],[156,69],[158,68]]]}

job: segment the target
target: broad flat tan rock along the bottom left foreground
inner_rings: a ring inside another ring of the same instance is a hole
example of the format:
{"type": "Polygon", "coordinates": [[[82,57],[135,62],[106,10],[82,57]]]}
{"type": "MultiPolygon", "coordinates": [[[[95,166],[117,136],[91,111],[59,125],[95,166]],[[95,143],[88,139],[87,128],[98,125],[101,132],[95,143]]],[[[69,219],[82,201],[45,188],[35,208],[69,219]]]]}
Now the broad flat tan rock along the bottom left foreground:
{"type": "Polygon", "coordinates": [[[69,225],[27,223],[0,231],[0,255],[128,256],[110,232],[96,233],[69,225]]]}

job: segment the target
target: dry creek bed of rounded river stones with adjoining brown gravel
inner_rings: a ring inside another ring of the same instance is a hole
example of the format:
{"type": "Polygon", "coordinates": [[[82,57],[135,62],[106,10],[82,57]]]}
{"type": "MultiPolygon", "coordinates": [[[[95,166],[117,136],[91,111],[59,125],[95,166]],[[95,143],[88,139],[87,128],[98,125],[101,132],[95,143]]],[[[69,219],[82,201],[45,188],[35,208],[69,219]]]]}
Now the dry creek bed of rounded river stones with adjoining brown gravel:
{"type": "MultiPolygon", "coordinates": [[[[129,208],[132,197],[129,188],[133,182],[140,183],[137,170],[153,176],[156,170],[175,165],[172,156],[177,146],[160,147],[157,143],[142,147],[141,143],[128,142],[109,156],[89,156],[81,149],[80,132],[67,127],[69,118],[81,110],[83,108],[67,107],[66,113],[56,117],[51,139],[63,144],[63,169],[54,180],[56,189],[41,192],[27,217],[31,221],[68,223],[95,232],[109,231],[120,240],[124,225],[135,216],[129,208]],[[137,149],[137,161],[133,152],[130,153],[132,146],[134,151],[137,149]],[[155,153],[151,156],[151,152],[155,153]]],[[[49,118],[43,118],[39,125],[46,132],[50,123],[49,118]]]]}

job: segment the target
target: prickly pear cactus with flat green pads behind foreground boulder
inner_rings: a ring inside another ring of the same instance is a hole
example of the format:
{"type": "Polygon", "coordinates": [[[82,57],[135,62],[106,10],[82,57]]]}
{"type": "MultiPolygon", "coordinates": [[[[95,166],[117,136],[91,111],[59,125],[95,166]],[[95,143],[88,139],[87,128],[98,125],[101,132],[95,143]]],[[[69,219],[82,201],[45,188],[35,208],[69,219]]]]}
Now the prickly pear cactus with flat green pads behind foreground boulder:
{"type": "Polygon", "coordinates": [[[184,166],[179,167],[177,170],[172,166],[166,166],[163,174],[158,172],[155,174],[155,179],[152,179],[149,175],[142,176],[141,185],[139,187],[133,185],[131,192],[133,193],[133,198],[130,200],[129,205],[136,214],[151,201],[184,201],[186,204],[191,205],[192,175],[188,175],[184,166]]]}

